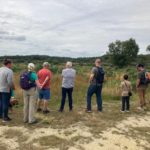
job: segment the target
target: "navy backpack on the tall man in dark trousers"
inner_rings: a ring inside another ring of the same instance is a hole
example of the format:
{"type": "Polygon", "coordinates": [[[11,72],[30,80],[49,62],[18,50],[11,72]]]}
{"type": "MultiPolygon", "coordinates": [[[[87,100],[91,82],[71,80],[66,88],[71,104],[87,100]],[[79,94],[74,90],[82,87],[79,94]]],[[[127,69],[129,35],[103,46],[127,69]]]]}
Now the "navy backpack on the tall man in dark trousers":
{"type": "Polygon", "coordinates": [[[105,72],[102,67],[96,67],[97,73],[95,74],[96,84],[102,84],[104,82],[105,72]]]}

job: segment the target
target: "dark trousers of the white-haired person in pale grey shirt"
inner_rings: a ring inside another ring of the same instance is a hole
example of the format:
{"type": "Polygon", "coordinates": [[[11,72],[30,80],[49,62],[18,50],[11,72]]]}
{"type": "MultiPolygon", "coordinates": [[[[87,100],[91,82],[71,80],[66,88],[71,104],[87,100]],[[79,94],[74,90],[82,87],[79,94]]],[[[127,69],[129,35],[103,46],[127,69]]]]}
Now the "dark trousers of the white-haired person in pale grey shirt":
{"type": "Polygon", "coordinates": [[[72,103],[73,103],[72,92],[73,92],[73,88],[62,88],[62,99],[61,99],[61,106],[60,106],[61,111],[64,110],[67,95],[68,95],[68,101],[69,101],[69,110],[72,110],[72,103]]]}

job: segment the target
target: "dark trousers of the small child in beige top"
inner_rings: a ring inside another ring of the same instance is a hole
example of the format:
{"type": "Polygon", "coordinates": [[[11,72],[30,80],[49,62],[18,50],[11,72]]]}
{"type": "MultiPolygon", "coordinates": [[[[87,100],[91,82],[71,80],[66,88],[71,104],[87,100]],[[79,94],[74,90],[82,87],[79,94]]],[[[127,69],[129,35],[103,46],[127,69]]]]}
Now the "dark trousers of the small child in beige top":
{"type": "Polygon", "coordinates": [[[130,109],[130,97],[122,96],[122,111],[130,109]]]}

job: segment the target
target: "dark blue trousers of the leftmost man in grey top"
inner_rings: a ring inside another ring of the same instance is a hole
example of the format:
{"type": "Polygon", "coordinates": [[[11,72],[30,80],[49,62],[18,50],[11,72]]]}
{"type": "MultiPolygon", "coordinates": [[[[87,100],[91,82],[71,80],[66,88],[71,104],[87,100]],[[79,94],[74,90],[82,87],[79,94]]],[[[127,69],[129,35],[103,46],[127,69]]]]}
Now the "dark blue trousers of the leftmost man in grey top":
{"type": "Polygon", "coordinates": [[[0,92],[0,117],[3,119],[8,117],[9,103],[10,93],[0,92]]]}

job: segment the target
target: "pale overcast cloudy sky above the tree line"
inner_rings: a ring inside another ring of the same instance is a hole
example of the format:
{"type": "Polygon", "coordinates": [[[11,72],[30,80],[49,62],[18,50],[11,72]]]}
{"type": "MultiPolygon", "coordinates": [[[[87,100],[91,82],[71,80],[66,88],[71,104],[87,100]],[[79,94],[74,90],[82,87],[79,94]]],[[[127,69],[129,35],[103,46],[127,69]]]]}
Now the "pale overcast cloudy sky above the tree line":
{"type": "Polygon", "coordinates": [[[0,0],[0,56],[101,56],[116,40],[150,44],[150,0],[0,0]]]}

